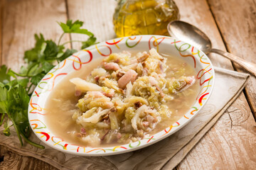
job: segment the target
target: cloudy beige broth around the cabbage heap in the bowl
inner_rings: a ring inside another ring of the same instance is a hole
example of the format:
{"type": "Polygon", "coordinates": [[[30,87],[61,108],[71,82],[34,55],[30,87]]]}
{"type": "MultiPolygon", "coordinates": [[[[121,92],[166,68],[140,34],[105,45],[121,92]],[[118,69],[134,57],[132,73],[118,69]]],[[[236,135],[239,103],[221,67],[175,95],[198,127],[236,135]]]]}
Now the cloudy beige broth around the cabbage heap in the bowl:
{"type": "MultiPolygon", "coordinates": [[[[166,64],[168,65],[168,69],[166,70],[166,77],[178,78],[181,74],[183,76],[196,76],[195,69],[193,69],[193,67],[187,64],[184,60],[177,59],[176,57],[171,57],[169,55],[161,55],[167,58],[166,64]],[[183,69],[177,72],[177,68],[181,67],[183,67],[183,69]]],[[[90,146],[82,142],[78,137],[72,135],[73,132],[80,132],[81,125],[78,125],[72,118],[75,109],[77,109],[75,105],[78,103],[79,98],[74,95],[75,88],[74,84],[70,82],[70,79],[73,77],[85,79],[90,72],[92,72],[92,69],[95,69],[100,62],[101,60],[90,62],[90,67],[85,65],[79,71],[70,73],[67,77],[61,80],[59,84],[57,84],[48,97],[45,111],[46,124],[53,134],[72,145],[79,145],[82,147],[90,146]]],[[[168,128],[180,119],[195,102],[198,89],[199,85],[196,80],[196,83],[189,86],[186,91],[181,91],[176,94],[174,100],[167,103],[172,112],[171,118],[158,123],[149,135],[153,135],[156,132],[164,130],[164,128],[168,128]]],[[[121,145],[122,144],[124,143],[121,143],[121,145]]],[[[112,145],[115,145],[115,143],[101,144],[100,146],[110,147],[112,145]]]]}

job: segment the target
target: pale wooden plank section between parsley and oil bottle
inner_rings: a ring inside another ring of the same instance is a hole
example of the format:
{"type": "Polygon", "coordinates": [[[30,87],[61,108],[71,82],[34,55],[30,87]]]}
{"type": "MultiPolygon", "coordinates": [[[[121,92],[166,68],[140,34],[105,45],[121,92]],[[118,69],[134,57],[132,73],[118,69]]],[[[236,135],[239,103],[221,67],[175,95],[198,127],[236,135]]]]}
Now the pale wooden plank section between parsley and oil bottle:
{"type": "MultiPolygon", "coordinates": [[[[68,15],[70,19],[85,21],[84,28],[95,34],[98,42],[115,38],[112,16],[117,1],[113,0],[68,0],[68,15]]],[[[87,36],[71,35],[72,40],[86,40],[87,36]]],[[[80,49],[80,43],[73,43],[75,49],[80,49]]]]}

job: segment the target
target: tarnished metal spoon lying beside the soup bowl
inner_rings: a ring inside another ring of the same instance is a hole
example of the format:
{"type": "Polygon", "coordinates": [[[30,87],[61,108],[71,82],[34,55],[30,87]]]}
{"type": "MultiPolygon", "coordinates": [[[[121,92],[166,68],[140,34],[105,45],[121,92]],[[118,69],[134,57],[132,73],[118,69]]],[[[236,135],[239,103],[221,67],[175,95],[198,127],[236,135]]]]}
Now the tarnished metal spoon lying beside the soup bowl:
{"type": "Polygon", "coordinates": [[[167,30],[171,36],[194,45],[206,53],[206,55],[209,52],[215,52],[219,55],[222,55],[223,57],[226,57],[229,60],[244,67],[248,72],[251,72],[256,77],[256,64],[247,62],[240,57],[230,54],[229,52],[224,52],[222,50],[212,48],[208,36],[195,26],[192,26],[191,24],[183,21],[172,21],[168,24],[167,30]]]}

